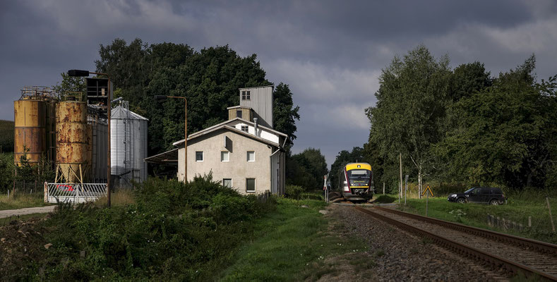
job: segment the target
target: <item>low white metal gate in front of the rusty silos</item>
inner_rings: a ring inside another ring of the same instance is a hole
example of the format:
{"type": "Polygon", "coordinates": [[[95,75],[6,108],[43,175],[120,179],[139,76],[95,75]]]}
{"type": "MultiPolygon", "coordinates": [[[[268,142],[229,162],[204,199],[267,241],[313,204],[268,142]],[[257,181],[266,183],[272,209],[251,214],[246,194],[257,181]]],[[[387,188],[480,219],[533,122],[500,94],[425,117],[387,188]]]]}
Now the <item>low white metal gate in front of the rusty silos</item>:
{"type": "Polygon", "coordinates": [[[44,202],[92,202],[107,196],[107,183],[44,183],[44,202]]]}

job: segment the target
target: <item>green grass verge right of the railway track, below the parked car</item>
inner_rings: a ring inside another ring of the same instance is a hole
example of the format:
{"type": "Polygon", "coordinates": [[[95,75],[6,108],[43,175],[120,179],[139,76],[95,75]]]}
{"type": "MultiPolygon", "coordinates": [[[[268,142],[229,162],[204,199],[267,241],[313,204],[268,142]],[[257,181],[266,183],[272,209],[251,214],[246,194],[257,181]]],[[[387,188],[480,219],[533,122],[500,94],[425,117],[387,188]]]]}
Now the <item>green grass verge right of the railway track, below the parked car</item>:
{"type": "MultiPolygon", "coordinates": [[[[448,202],[446,195],[443,197],[431,197],[428,203],[428,216],[446,221],[487,228],[493,231],[510,233],[521,237],[542,240],[549,243],[557,243],[557,234],[551,231],[549,209],[542,192],[525,191],[508,196],[508,204],[493,206],[489,204],[457,204],[448,202]],[[503,230],[492,228],[488,225],[488,214],[499,216],[501,219],[522,223],[522,232],[513,229],[503,230]],[[532,216],[532,227],[528,228],[528,216],[532,216]]],[[[397,202],[397,195],[385,195],[393,202],[397,202]]],[[[404,200],[401,201],[402,203],[404,200]]],[[[557,224],[557,197],[549,199],[553,223],[557,224]]],[[[405,212],[425,215],[426,199],[412,197],[407,199],[407,205],[401,204],[400,209],[405,212]]]]}

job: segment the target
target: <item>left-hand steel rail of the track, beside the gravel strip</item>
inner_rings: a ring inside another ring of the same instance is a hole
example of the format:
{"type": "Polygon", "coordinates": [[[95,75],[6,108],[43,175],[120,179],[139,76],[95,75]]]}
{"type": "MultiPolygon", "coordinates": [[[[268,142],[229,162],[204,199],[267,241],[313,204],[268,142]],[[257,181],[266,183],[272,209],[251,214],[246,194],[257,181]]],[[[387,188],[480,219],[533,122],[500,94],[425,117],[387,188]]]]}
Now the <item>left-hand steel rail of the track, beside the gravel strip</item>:
{"type": "Polygon", "coordinates": [[[402,221],[397,221],[396,219],[391,219],[390,217],[384,216],[383,214],[378,214],[376,212],[371,212],[369,209],[363,209],[361,207],[354,207],[354,208],[357,209],[359,212],[369,214],[370,216],[373,216],[376,219],[379,219],[381,221],[385,221],[387,223],[393,224],[394,226],[398,226],[405,231],[410,231],[410,232],[416,233],[418,235],[424,235],[427,238],[430,238],[431,240],[433,240],[433,242],[438,243],[438,245],[441,245],[443,247],[447,247],[448,249],[454,250],[455,252],[459,252],[462,255],[466,255],[466,256],[469,256],[469,257],[476,258],[476,259],[482,259],[485,262],[493,264],[494,266],[502,266],[503,268],[507,269],[508,271],[512,271],[513,274],[518,274],[519,272],[522,272],[528,277],[537,275],[537,276],[545,278],[549,281],[557,281],[556,276],[552,276],[551,274],[546,274],[544,272],[541,272],[537,269],[533,269],[533,268],[531,268],[529,266],[526,266],[524,264],[513,262],[513,261],[510,261],[509,259],[499,257],[498,255],[493,255],[493,254],[490,254],[488,252],[478,250],[474,247],[464,245],[462,243],[459,243],[455,240],[451,240],[449,238],[444,238],[441,235],[436,235],[436,234],[431,233],[429,231],[425,231],[424,229],[421,229],[421,228],[418,228],[418,227],[415,227],[415,226],[411,226],[407,223],[403,223],[402,221]]]}

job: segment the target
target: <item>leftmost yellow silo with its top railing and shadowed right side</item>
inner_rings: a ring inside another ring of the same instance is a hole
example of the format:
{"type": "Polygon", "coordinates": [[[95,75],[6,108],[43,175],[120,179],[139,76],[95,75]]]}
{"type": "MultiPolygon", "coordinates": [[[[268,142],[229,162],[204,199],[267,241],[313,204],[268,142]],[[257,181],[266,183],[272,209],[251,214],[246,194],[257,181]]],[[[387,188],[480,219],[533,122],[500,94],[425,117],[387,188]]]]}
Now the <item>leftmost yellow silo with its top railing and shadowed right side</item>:
{"type": "Polygon", "coordinates": [[[15,128],[13,158],[20,166],[26,154],[29,164],[36,165],[42,157],[54,160],[54,104],[56,97],[49,87],[27,86],[19,100],[13,102],[15,128]]]}

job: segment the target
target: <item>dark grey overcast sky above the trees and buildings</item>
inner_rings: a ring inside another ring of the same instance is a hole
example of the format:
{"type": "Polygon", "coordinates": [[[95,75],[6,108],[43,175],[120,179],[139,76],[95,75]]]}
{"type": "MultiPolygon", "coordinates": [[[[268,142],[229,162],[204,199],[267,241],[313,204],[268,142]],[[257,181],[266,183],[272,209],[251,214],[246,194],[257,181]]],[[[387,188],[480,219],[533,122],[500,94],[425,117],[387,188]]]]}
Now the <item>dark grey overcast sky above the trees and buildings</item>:
{"type": "Polygon", "coordinates": [[[492,74],[532,53],[538,78],[557,73],[557,1],[8,1],[0,0],[0,119],[13,121],[25,85],[56,85],[94,70],[116,37],[229,44],[257,54],[267,78],[300,106],[294,153],[321,149],[328,164],[366,142],[364,109],[395,55],[424,44],[453,68],[480,61],[492,74]]]}

